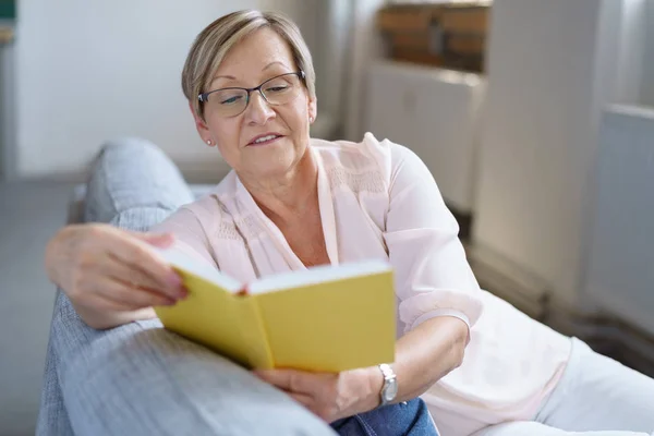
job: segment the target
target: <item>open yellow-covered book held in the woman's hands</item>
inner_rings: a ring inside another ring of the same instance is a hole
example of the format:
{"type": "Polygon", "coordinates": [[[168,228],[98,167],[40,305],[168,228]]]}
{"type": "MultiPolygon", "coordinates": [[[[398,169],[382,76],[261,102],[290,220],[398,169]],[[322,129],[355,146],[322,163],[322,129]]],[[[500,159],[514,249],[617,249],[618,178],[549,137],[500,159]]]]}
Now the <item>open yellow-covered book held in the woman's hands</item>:
{"type": "Polygon", "coordinates": [[[189,296],[155,312],[167,329],[249,367],[340,372],[395,360],[388,263],[366,261],[238,280],[173,250],[158,253],[189,296]]]}

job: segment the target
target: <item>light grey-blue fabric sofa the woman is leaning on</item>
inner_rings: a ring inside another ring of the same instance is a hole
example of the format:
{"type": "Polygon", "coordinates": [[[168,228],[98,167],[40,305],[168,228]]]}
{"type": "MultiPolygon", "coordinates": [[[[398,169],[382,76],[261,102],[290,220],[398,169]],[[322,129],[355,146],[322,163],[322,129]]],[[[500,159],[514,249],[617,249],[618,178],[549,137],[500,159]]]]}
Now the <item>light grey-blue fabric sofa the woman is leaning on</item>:
{"type": "MultiPolygon", "coordinates": [[[[70,221],[146,230],[210,186],[187,186],[153,144],[108,143],[70,221]]],[[[332,435],[246,371],[158,320],[95,330],[57,291],[37,435],[332,435]]]]}

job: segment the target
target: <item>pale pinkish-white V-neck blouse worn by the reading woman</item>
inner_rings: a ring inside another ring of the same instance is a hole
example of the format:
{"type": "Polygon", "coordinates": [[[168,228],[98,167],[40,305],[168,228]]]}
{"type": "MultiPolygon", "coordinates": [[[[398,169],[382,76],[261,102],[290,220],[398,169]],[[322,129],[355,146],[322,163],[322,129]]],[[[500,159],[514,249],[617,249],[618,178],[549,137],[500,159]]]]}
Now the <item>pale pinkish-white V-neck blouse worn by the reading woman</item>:
{"type": "MultiPolygon", "coordinates": [[[[331,264],[391,263],[398,336],[436,316],[471,329],[462,365],[423,396],[441,434],[532,419],[562,373],[570,340],[480,289],[422,160],[370,133],[361,143],[311,140],[310,150],[331,264]]],[[[305,268],[234,171],[153,230],[174,233],[178,250],[241,281],[305,268]]]]}

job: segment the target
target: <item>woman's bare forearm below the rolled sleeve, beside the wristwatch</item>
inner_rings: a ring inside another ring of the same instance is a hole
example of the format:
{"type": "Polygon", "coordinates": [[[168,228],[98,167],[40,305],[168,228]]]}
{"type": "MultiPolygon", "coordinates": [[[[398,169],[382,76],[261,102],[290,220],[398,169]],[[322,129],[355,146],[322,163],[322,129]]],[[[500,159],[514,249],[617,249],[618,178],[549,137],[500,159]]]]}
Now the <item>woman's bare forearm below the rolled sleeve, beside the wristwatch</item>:
{"type": "MultiPolygon", "coordinates": [[[[400,338],[396,344],[396,361],[392,364],[399,388],[393,402],[419,397],[457,368],[463,361],[467,342],[468,326],[461,319],[451,316],[432,318],[400,338]]],[[[375,366],[365,371],[372,386],[368,407],[377,405],[384,377],[375,366]]]]}

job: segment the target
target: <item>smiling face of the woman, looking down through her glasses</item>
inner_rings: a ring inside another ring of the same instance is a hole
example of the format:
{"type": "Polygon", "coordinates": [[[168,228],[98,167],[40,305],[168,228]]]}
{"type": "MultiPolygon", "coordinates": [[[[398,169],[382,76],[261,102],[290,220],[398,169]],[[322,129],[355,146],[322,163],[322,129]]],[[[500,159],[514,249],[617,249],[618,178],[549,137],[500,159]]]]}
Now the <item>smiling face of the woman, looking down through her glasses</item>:
{"type": "MultiPolygon", "coordinates": [[[[263,28],[232,47],[205,90],[252,88],[296,71],[286,41],[275,31],[263,28]]],[[[298,97],[279,106],[269,105],[258,92],[252,92],[250,104],[235,117],[226,118],[217,113],[214,104],[203,104],[205,120],[194,113],[195,125],[205,144],[210,140],[217,145],[222,158],[240,177],[279,177],[301,161],[308,145],[310,124],[316,118],[316,101],[308,97],[303,84],[301,87],[298,97]],[[276,138],[254,143],[269,135],[276,138]]]]}

